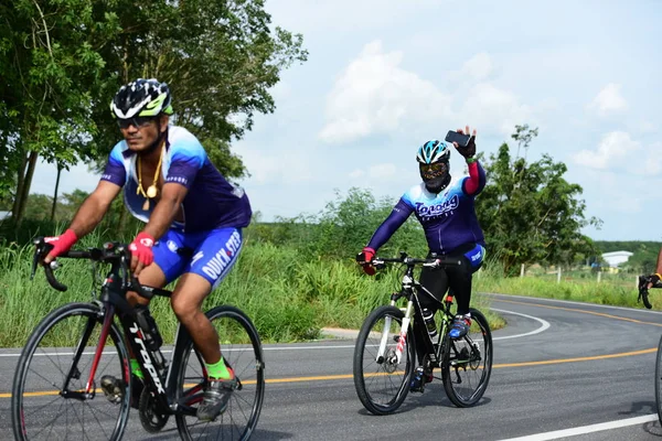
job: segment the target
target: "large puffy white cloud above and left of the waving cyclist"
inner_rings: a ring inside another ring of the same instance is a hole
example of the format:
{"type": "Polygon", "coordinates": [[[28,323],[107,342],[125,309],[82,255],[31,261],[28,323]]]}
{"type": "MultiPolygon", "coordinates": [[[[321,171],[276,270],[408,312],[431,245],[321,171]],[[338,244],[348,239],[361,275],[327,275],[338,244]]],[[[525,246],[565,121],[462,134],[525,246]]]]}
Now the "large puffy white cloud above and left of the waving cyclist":
{"type": "Polygon", "coordinates": [[[366,44],[327,97],[328,122],[320,138],[346,142],[448,116],[450,98],[399,67],[402,60],[402,52],[384,53],[381,41],[366,44]]]}

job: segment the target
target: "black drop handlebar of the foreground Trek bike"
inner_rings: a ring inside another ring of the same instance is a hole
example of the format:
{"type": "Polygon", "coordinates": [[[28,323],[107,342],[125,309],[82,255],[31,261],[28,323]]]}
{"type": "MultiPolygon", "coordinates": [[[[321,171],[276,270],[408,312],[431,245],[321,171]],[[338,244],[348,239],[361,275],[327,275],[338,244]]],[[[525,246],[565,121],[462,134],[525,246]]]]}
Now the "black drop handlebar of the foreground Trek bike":
{"type": "MultiPolygon", "coordinates": [[[[34,239],[34,246],[35,250],[32,260],[32,271],[30,273],[30,280],[34,279],[36,266],[41,265],[42,267],[44,267],[44,272],[46,275],[46,280],[49,281],[49,284],[57,291],[66,291],[67,286],[60,282],[53,273],[53,270],[58,268],[57,261],[53,260],[50,263],[44,262],[44,258],[53,249],[53,245],[47,244],[43,237],[38,237],[36,239],[34,239]]],[[[151,299],[154,295],[154,293],[151,290],[145,289],[140,284],[140,282],[138,282],[138,279],[136,279],[136,277],[130,272],[129,263],[131,261],[131,251],[129,250],[129,247],[126,244],[111,241],[104,244],[103,248],[88,248],[87,250],[70,250],[67,252],[63,252],[57,257],[70,259],[88,259],[100,263],[119,265],[121,272],[125,275],[122,288],[126,288],[130,291],[135,291],[146,299],[151,299]]]]}

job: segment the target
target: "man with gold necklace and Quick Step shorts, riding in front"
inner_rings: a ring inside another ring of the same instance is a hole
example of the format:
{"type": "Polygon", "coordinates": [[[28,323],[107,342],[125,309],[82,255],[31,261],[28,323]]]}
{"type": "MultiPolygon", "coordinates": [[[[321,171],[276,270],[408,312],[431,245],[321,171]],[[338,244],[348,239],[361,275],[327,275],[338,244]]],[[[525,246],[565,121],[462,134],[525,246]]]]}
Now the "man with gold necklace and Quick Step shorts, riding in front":
{"type": "MultiPolygon", "coordinates": [[[[166,83],[131,82],[115,95],[110,109],[124,140],[110,152],[96,190],[68,229],[46,239],[54,248],[45,261],[92,232],[124,187],[127,208],[147,224],[129,245],[131,270],[140,283],[151,287],[179,278],[172,310],[202,354],[210,379],[197,418],[213,420],[224,411],[237,380],[223,361],[216,330],[201,306],[237,260],[242,228],[250,222],[250,204],[244,191],[216,170],[197,138],[169,123],[173,108],[166,83]]],[[[148,312],[148,300],[132,292],[128,299],[148,312]]],[[[139,386],[134,387],[136,406],[142,373],[132,354],[131,372],[139,386]]],[[[124,394],[125,385],[119,383],[102,378],[110,399],[124,394]]]]}

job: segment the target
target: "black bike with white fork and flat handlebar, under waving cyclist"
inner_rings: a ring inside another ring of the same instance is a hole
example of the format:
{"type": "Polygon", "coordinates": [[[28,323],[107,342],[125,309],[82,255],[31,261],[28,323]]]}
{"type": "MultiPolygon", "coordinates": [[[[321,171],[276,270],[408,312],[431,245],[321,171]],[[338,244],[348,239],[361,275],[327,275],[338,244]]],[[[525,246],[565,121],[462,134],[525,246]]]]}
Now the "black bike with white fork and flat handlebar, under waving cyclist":
{"type": "Polygon", "coordinates": [[[391,295],[391,304],[376,308],[363,322],[354,348],[354,386],[363,406],[375,415],[392,413],[403,404],[416,369],[416,338],[425,347],[426,373],[441,368],[448,398],[458,407],[476,405],[483,396],[492,372],[492,333],[485,316],[471,309],[472,324],[461,338],[448,335],[452,325],[452,293],[437,300],[414,278],[416,266],[460,265],[458,259],[415,259],[402,252],[397,258],[375,257],[372,265],[406,267],[402,289],[391,295]],[[439,306],[437,337],[424,324],[419,295],[428,295],[439,306]],[[398,301],[406,304],[398,306],[398,301]],[[440,320],[439,320],[440,319],[440,320]],[[418,332],[415,332],[418,331],[418,332]]]}

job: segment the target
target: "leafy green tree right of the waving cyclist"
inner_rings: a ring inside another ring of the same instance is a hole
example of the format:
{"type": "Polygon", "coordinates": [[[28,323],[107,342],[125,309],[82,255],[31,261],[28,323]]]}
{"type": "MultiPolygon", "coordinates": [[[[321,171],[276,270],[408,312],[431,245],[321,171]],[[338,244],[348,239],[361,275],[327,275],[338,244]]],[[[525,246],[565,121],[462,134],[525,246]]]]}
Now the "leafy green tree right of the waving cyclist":
{"type": "MultiPolygon", "coordinates": [[[[516,126],[512,138],[517,150],[523,147],[526,152],[535,136],[537,129],[516,126]]],[[[521,263],[568,263],[581,254],[595,254],[580,229],[601,222],[585,218],[583,190],[563,178],[564,163],[548,154],[532,163],[521,157],[513,160],[503,143],[484,168],[488,184],[479,196],[478,217],[489,249],[508,275],[519,271],[521,263]]]]}

